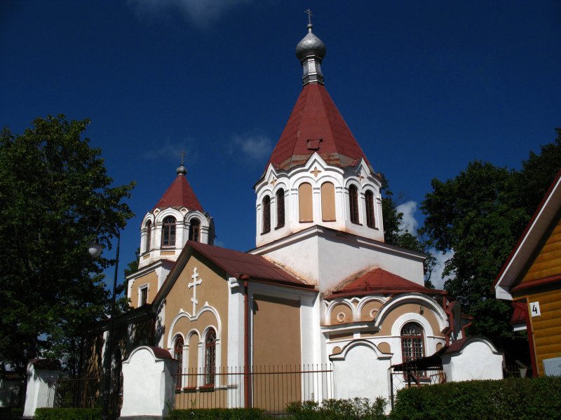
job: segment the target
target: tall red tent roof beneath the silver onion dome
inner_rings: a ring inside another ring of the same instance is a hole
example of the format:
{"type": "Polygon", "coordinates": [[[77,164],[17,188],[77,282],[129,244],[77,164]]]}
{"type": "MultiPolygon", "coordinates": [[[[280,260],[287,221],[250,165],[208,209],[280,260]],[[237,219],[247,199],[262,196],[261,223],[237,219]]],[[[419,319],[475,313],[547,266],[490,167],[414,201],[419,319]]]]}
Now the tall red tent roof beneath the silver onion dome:
{"type": "Polygon", "coordinates": [[[314,152],[332,165],[356,165],[363,158],[370,166],[325,86],[317,83],[302,89],[267,167],[272,163],[277,169],[290,169],[314,152]]]}

